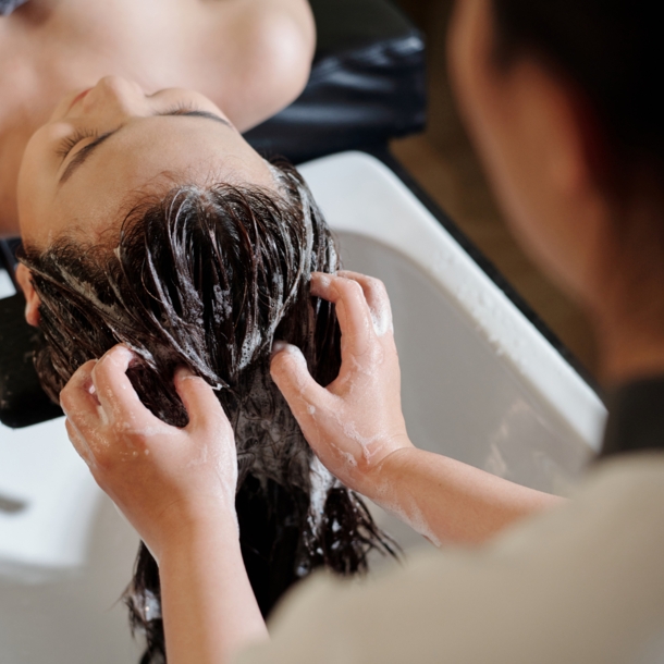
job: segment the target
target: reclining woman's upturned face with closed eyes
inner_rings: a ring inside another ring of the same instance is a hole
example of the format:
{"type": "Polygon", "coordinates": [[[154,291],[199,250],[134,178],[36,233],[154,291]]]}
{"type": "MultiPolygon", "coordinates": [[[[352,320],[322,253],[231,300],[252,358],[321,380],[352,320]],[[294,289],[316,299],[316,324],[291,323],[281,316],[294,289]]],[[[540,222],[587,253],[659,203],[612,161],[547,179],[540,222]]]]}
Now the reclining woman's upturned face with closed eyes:
{"type": "Polygon", "coordinates": [[[145,95],[135,83],[102,78],[67,95],[27,145],[19,175],[23,239],[38,248],[63,234],[94,243],[119,228],[140,194],[183,179],[275,186],[267,163],[202,95],[145,95]]]}

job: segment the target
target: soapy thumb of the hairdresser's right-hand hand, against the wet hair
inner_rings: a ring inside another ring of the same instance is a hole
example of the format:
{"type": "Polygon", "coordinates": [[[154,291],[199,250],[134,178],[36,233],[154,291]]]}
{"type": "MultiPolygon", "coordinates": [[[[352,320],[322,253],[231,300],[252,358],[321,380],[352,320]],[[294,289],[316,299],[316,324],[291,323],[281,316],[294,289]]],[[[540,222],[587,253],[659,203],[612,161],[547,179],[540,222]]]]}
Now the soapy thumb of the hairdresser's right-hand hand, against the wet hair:
{"type": "Polygon", "coordinates": [[[317,408],[328,410],[334,397],[311,378],[305,356],[292,344],[274,342],[270,374],[307,438],[317,408]]]}

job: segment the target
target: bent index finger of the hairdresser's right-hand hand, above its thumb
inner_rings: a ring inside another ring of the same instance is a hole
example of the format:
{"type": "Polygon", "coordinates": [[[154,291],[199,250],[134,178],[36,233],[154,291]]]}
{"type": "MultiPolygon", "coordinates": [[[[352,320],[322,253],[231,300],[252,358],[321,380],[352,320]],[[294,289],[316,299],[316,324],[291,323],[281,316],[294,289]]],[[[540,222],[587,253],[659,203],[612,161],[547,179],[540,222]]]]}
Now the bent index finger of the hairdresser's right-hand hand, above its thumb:
{"type": "Polygon", "coordinates": [[[322,297],[336,306],[342,333],[342,354],[364,355],[373,342],[371,310],[359,283],[336,274],[315,272],[311,275],[311,295],[322,297]]]}

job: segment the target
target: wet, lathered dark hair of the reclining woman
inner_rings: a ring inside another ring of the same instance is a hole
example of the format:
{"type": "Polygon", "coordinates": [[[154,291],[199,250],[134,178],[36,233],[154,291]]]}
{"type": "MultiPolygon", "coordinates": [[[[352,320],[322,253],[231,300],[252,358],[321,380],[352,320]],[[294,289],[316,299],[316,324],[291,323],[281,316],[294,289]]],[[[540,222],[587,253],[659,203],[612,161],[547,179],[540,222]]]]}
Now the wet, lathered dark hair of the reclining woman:
{"type": "MultiPolygon", "coordinates": [[[[187,422],[177,366],[218,390],[235,430],[241,544],[263,615],[316,567],[349,575],[366,570],[372,549],[394,553],[362,501],[312,455],[269,374],[274,339],[302,348],[321,384],[341,365],[334,309],[309,295],[312,271],[339,267],[333,238],[295,169],[272,169],[279,195],[177,186],[135,206],[116,247],[61,238],[21,257],[41,300],[35,365],[51,398],[119,342],[139,358],[127,374],[143,403],[171,425],[187,422]]],[[[125,599],[147,638],[144,663],[165,660],[159,588],[142,544],[125,599]]]]}

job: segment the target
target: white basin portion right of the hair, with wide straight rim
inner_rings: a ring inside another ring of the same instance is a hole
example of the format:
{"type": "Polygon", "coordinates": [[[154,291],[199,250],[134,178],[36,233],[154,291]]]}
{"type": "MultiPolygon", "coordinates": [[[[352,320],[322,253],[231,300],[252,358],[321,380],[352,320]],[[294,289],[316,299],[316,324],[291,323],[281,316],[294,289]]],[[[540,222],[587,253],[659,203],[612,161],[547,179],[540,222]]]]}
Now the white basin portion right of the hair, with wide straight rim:
{"type": "MultiPolygon", "coordinates": [[[[414,443],[565,494],[599,448],[593,390],[384,164],[346,152],[300,169],[344,267],[388,288],[414,443]]],[[[406,546],[421,543],[376,517],[406,546]]]]}

